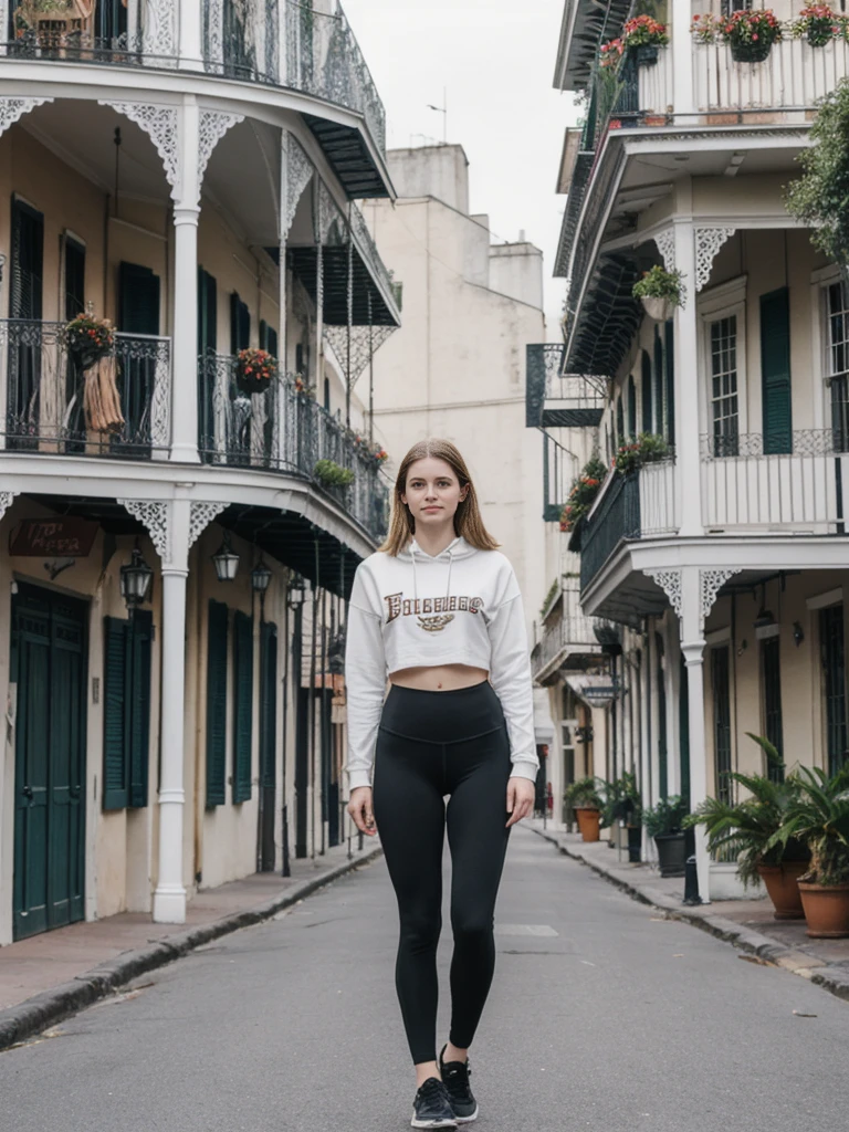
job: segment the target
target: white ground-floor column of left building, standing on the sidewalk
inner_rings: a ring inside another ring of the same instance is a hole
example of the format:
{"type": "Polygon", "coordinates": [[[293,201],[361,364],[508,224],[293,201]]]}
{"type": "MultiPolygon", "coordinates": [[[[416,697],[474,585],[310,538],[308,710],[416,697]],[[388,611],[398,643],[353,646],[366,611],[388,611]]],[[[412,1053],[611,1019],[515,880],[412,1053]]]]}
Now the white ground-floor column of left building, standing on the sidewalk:
{"type": "Polygon", "coordinates": [[[186,499],[174,500],[170,511],[169,550],[162,566],[162,770],[158,878],[153,894],[153,918],[156,924],[185,924],[183,715],[189,503],[186,499]]]}

